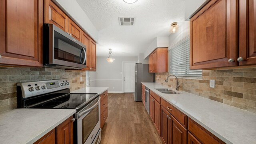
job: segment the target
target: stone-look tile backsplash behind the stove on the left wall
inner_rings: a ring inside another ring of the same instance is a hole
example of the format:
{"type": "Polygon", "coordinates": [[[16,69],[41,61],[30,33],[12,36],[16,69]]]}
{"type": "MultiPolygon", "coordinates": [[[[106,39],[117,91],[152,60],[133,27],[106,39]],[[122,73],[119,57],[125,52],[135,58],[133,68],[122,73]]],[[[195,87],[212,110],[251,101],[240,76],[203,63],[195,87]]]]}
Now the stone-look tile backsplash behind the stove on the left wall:
{"type": "Polygon", "coordinates": [[[70,91],[73,91],[86,87],[85,74],[84,71],[54,68],[0,67],[0,113],[17,108],[16,84],[18,82],[68,78],[70,91]]]}

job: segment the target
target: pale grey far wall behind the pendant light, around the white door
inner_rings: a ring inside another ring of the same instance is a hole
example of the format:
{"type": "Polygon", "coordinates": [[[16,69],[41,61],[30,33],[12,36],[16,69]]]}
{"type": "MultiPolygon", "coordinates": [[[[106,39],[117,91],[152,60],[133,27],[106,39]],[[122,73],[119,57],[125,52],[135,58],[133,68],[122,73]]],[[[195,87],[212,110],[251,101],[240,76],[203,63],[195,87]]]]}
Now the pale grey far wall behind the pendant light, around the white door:
{"type": "Polygon", "coordinates": [[[122,93],[122,62],[137,62],[138,57],[114,57],[111,64],[106,58],[97,57],[97,71],[90,72],[90,87],[108,87],[108,92],[122,93]]]}

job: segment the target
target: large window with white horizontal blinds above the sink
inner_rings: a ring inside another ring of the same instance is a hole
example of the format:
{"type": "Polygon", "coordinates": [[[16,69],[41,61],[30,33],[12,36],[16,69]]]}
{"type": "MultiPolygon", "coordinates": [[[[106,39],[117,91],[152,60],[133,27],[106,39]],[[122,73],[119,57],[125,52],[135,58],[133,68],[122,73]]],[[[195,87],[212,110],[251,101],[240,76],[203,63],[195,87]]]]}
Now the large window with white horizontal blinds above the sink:
{"type": "Polygon", "coordinates": [[[176,76],[202,77],[202,70],[190,70],[190,40],[181,40],[170,49],[170,73],[176,76]]]}

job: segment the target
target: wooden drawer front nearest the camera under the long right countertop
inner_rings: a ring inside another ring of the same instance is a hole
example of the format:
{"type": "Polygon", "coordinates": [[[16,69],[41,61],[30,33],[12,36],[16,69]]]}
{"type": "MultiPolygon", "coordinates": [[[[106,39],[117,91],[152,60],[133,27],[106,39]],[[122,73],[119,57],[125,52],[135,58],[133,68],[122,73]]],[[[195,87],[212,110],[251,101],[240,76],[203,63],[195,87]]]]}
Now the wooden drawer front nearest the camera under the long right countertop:
{"type": "Polygon", "coordinates": [[[225,144],[210,133],[208,130],[204,129],[202,126],[191,120],[188,119],[188,131],[193,134],[202,144],[225,144]]]}

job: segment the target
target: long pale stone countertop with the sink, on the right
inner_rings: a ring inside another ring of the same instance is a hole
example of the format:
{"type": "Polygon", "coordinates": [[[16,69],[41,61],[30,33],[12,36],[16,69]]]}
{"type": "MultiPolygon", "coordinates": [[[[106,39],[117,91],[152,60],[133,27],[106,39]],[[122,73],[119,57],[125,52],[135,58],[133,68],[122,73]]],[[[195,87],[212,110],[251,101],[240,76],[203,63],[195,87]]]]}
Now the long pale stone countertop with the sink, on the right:
{"type": "Polygon", "coordinates": [[[256,144],[256,114],[184,91],[164,94],[155,88],[174,89],[154,82],[142,84],[227,144],[256,144]]]}

